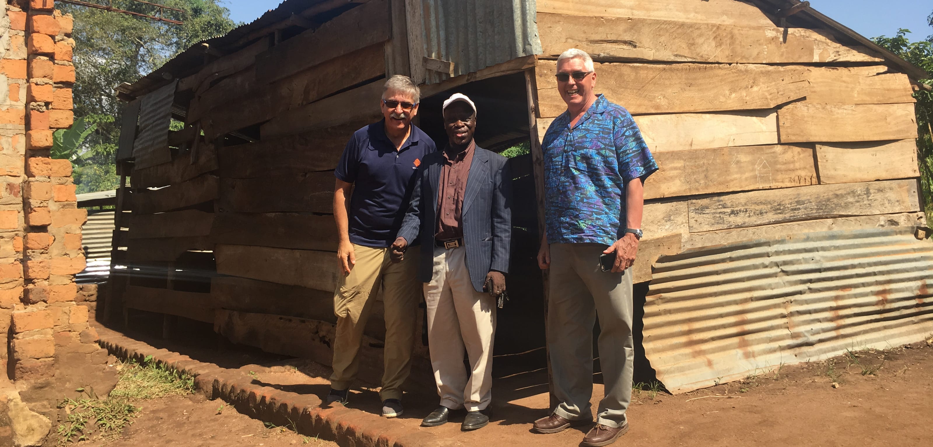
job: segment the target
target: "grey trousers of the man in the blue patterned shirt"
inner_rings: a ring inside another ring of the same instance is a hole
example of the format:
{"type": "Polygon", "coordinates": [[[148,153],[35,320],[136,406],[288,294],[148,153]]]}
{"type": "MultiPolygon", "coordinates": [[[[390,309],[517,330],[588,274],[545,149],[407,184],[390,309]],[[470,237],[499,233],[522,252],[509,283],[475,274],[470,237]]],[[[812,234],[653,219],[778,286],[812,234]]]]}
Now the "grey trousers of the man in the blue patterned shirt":
{"type": "Polygon", "coordinates": [[[599,362],[606,397],[597,423],[618,427],[632,399],[632,272],[602,272],[604,244],[550,244],[548,348],[554,409],[570,420],[592,420],[592,328],[599,316],[599,362]]]}

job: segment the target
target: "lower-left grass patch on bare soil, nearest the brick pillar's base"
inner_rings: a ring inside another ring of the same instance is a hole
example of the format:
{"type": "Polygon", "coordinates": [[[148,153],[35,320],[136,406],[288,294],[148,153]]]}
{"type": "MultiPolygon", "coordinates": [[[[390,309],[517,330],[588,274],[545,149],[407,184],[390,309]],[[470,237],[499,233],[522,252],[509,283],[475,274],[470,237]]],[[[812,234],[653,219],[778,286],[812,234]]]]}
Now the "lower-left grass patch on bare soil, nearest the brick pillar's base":
{"type": "Polygon", "coordinates": [[[100,399],[92,391],[85,391],[85,395],[87,398],[65,398],[59,402],[58,408],[66,414],[63,424],[58,426],[59,444],[90,440],[94,432],[104,440],[113,439],[123,427],[132,424],[132,418],[140,410],[125,398],[100,399]]]}

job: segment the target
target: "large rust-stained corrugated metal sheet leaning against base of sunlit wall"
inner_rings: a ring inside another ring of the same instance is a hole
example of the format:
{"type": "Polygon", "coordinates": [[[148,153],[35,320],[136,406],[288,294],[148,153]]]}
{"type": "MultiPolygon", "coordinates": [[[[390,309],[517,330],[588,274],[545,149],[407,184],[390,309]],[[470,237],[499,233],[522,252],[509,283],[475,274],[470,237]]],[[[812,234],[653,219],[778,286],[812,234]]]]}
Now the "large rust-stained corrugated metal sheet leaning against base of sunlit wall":
{"type": "Polygon", "coordinates": [[[825,231],[664,257],[645,304],[658,379],[687,392],[933,333],[933,242],[825,231]]]}

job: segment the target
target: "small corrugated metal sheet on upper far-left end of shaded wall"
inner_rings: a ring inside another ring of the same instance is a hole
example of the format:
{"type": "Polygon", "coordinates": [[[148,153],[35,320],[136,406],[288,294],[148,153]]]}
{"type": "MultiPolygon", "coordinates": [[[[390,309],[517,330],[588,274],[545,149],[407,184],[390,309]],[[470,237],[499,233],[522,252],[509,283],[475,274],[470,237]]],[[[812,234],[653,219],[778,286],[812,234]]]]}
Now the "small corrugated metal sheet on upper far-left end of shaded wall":
{"type": "Polygon", "coordinates": [[[169,85],[143,96],[139,106],[139,132],[132,144],[133,168],[142,169],[172,161],[169,124],[172,121],[175,79],[169,85]]]}

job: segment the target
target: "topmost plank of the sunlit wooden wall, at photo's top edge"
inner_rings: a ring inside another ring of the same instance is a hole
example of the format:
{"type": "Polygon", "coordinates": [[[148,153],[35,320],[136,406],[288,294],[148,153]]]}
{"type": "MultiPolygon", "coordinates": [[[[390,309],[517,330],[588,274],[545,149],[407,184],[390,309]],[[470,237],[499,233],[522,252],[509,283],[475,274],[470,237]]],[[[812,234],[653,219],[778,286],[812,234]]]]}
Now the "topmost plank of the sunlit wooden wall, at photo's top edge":
{"type": "Polygon", "coordinates": [[[758,7],[734,0],[537,0],[538,13],[587,17],[632,17],[773,27],[758,7]]]}

